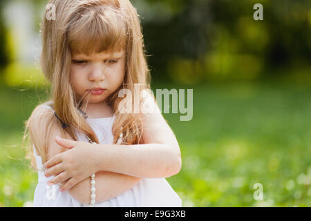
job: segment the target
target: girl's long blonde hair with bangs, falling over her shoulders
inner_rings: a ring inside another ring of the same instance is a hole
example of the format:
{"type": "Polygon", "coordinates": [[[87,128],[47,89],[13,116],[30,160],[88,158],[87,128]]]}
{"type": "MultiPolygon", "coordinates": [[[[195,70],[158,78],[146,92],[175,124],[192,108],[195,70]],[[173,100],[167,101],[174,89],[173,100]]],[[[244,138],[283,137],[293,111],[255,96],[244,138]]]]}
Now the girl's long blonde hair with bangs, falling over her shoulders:
{"type": "MultiPolygon", "coordinates": [[[[137,11],[129,0],[51,0],[56,8],[56,20],[44,19],[41,23],[42,51],[40,65],[44,76],[51,85],[50,100],[59,119],[68,127],[63,128],[74,140],[77,140],[75,128],[99,143],[91,126],[79,115],[77,108],[81,100],[69,82],[71,51],[83,52],[115,52],[124,49],[126,52],[125,75],[123,84],[106,99],[115,113],[113,123],[113,144],[123,133],[122,144],[139,144],[142,138],[142,119],[140,115],[122,114],[117,106],[122,101],[118,93],[122,88],[133,92],[134,84],[140,89],[150,88],[150,72],[147,66],[142,28],[137,11]]],[[[132,93],[133,94],[133,93],[132,93]]],[[[133,100],[133,99],[132,99],[133,100]]],[[[50,115],[50,125],[59,124],[56,117],[50,115]]],[[[31,142],[29,154],[34,162],[32,146],[46,161],[46,145],[48,131],[41,143],[36,139],[31,128],[31,116],[26,121],[23,140],[29,130],[31,142]],[[38,148],[41,146],[42,148],[38,148]]],[[[29,155],[28,155],[29,157],[29,155]]]]}

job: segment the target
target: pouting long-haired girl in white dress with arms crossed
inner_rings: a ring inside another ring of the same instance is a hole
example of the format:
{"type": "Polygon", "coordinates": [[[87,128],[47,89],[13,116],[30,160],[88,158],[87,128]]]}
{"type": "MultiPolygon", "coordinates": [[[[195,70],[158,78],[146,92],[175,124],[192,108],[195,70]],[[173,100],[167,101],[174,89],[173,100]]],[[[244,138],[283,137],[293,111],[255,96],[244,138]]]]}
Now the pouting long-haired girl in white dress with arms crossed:
{"type": "Polygon", "coordinates": [[[182,206],[164,179],[180,171],[180,148],[146,93],[135,8],[129,0],[49,3],[55,19],[41,24],[41,68],[50,101],[35,108],[23,137],[28,130],[28,156],[38,170],[34,206],[182,206]],[[120,92],[133,92],[134,84],[140,107],[156,113],[122,112],[120,92]]]}

